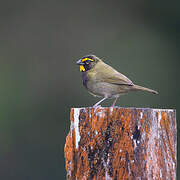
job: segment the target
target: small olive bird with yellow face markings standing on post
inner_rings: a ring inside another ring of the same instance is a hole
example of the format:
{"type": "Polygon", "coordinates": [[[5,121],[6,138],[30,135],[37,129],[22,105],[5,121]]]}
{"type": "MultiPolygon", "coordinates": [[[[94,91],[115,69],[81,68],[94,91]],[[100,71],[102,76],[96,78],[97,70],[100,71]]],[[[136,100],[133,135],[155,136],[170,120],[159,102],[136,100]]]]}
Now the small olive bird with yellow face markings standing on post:
{"type": "Polygon", "coordinates": [[[77,61],[77,65],[80,66],[83,85],[89,93],[103,97],[93,107],[99,106],[107,98],[115,98],[112,104],[112,107],[114,107],[118,97],[130,91],[147,91],[158,94],[157,91],[134,84],[126,76],[104,63],[95,55],[82,57],[77,61]]]}

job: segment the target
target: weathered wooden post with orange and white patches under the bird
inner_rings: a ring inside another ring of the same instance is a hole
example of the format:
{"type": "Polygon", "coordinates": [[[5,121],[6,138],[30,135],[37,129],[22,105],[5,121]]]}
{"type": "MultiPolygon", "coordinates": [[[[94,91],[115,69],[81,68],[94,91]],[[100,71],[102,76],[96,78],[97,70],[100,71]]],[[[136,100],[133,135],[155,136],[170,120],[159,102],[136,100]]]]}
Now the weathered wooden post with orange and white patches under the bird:
{"type": "Polygon", "coordinates": [[[176,179],[176,112],[150,108],[72,108],[67,179],[176,179]]]}

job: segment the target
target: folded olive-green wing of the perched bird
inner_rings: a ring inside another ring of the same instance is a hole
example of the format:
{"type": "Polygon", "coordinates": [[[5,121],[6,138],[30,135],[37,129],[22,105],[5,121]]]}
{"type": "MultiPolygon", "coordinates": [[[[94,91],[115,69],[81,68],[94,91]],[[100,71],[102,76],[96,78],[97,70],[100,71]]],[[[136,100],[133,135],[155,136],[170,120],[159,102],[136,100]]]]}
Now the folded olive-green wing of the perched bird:
{"type": "Polygon", "coordinates": [[[101,66],[97,66],[97,68],[97,80],[117,85],[134,85],[130,79],[105,63],[103,63],[101,66]]]}

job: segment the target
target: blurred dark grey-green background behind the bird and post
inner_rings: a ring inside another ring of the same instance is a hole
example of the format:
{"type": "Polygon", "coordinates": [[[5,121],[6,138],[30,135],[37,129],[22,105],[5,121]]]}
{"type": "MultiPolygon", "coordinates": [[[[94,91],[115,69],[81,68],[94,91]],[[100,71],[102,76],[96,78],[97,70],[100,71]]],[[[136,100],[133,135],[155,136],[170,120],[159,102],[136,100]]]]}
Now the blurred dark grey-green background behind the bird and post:
{"type": "Polygon", "coordinates": [[[70,108],[99,100],[76,65],[90,53],[159,91],[122,96],[118,105],[175,108],[178,122],[178,1],[2,0],[0,179],[65,179],[70,108]]]}

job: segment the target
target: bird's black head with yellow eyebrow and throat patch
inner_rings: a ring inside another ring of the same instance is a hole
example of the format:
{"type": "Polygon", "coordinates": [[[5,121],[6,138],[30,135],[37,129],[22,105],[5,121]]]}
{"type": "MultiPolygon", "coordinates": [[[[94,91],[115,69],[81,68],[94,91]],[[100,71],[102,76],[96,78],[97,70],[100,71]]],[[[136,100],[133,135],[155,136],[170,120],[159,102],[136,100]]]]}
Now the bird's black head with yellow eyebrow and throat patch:
{"type": "Polygon", "coordinates": [[[86,72],[92,69],[99,61],[101,60],[95,55],[87,55],[82,57],[76,63],[80,66],[80,71],[86,72]]]}

